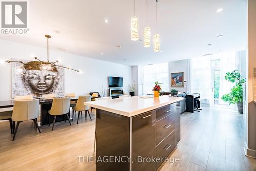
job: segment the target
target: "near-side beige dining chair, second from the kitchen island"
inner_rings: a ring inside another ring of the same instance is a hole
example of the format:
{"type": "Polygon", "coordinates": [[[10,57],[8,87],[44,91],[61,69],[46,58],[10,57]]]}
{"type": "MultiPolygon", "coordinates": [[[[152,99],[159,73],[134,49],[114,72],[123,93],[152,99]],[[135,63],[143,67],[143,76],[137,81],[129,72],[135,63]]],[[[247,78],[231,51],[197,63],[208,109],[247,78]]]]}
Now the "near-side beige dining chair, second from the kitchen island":
{"type": "Polygon", "coordinates": [[[59,116],[59,115],[66,115],[68,117],[68,121],[71,126],[69,115],[68,115],[69,112],[70,112],[70,97],[53,98],[51,110],[48,111],[49,115],[54,116],[52,131],[54,128],[56,116],[59,116]]]}

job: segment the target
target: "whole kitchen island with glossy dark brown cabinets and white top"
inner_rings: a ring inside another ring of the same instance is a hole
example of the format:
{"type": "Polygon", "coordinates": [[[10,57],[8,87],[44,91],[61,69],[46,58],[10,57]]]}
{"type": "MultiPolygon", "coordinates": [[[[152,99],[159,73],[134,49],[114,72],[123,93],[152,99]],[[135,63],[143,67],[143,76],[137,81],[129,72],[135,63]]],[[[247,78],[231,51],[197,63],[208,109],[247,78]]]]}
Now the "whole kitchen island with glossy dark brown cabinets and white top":
{"type": "Polygon", "coordinates": [[[97,170],[157,170],[180,141],[181,97],[85,102],[96,108],[97,170]]]}

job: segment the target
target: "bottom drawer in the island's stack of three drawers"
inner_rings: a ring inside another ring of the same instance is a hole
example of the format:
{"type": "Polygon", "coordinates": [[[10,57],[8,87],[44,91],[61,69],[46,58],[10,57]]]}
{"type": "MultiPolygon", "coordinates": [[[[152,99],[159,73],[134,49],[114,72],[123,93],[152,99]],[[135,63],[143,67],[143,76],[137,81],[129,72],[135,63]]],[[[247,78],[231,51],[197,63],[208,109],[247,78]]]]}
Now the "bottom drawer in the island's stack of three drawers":
{"type": "MultiPolygon", "coordinates": [[[[156,147],[156,157],[164,158],[167,157],[175,147],[175,131],[170,134],[166,139],[164,139],[158,146],[156,147]]],[[[157,168],[162,163],[156,163],[157,168]]]]}

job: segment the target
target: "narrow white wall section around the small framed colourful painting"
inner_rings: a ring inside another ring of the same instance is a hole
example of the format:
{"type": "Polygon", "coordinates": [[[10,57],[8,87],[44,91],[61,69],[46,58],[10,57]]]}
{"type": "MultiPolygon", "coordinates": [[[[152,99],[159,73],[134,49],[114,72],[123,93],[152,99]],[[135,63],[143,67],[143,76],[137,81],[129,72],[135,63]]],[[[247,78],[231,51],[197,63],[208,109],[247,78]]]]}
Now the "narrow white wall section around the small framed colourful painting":
{"type": "MultiPolygon", "coordinates": [[[[171,83],[169,82],[169,87],[170,89],[176,89],[178,90],[179,92],[189,92],[189,88],[188,88],[188,85],[189,85],[189,59],[185,59],[185,60],[177,60],[177,61],[172,61],[172,62],[169,62],[168,65],[169,65],[169,79],[170,79],[170,74],[171,73],[177,73],[177,72],[184,72],[184,87],[182,88],[178,88],[178,87],[170,87],[171,86],[171,83]]],[[[171,81],[171,80],[170,80],[171,81]]]]}

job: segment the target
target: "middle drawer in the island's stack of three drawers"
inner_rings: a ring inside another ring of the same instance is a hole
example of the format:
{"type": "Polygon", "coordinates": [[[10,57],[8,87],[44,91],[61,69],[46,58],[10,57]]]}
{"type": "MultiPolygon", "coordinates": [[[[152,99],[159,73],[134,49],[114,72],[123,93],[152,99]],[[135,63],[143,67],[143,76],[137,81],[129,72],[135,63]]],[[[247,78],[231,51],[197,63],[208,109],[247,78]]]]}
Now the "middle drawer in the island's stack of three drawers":
{"type": "Polygon", "coordinates": [[[175,114],[169,114],[156,122],[156,140],[159,144],[167,135],[175,129],[175,114]]]}

